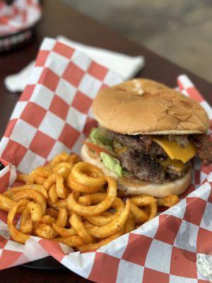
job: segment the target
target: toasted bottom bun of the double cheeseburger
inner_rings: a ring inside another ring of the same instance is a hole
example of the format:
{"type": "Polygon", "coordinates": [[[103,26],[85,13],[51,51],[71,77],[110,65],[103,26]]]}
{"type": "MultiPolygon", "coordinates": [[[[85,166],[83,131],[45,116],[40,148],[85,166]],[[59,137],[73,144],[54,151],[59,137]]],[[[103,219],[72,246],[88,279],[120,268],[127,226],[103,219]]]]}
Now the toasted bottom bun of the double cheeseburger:
{"type": "Polygon", "coordinates": [[[105,175],[109,175],[117,180],[119,190],[122,190],[123,195],[152,195],[153,197],[166,197],[167,195],[181,195],[187,190],[192,181],[192,169],[190,169],[182,178],[172,182],[163,184],[155,184],[139,180],[137,178],[122,177],[114,173],[112,170],[105,167],[100,156],[90,151],[86,144],[83,144],[81,149],[81,157],[83,161],[92,163],[102,169],[105,175]]]}

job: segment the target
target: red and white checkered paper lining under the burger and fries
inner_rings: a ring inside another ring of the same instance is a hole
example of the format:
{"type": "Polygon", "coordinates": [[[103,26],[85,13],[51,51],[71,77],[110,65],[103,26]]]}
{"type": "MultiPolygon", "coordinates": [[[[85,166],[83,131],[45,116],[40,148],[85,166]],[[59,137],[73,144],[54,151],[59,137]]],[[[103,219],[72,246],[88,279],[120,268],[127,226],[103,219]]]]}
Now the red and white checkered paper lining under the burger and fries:
{"type": "MultiPolygon", "coordinates": [[[[90,112],[93,98],[101,88],[121,81],[86,54],[46,39],[1,140],[1,158],[28,173],[61,151],[79,153],[81,141],[96,125],[90,112]]],[[[177,85],[184,95],[198,100],[212,118],[210,106],[187,76],[179,76],[177,85]]],[[[8,166],[0,176],[4,180],[1,191],[14,178],[8,166]]],[[[194,162],[192,185],[179,204],[88,253],[73,252],[63,244],[35,236],[25,246],[15,243],[8,233],[6,213],[0,212],[0,268],[52,255],[95,282],[206,282],[206,260],[212,260],[211,171],[211,167],[194,162]]]]}

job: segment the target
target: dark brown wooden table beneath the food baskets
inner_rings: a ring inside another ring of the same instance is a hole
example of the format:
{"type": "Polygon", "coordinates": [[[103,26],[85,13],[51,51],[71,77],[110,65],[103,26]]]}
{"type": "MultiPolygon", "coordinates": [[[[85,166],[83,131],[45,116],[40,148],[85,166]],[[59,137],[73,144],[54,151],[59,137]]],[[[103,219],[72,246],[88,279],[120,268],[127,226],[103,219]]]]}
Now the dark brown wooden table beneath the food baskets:
{"type": "MultiPolygon", "coordinates": [[[[129,55],[143,55],[146,66],[137,76],[155,79],[169,86],[176,86],[176,78],[179,74],[187,74],[196,84],[199,91],[211,103],[212,84],[199,78],[167,59],[147,50],[135,42],[126,40],[114,30],[91,20],[87,16],[74,11],[70,6],[62,4],[59,0],[42,1],[43,17],[37,30],[35,42],[16,52],[1,55],[0,57],[0,134],[4,129],[16,104],[20,93],[10,93],[4,86],[4,78],[16,73],[35,59],[37,50],[43,37],[55,37],[65,35],[79,42],[108,50],[126,53],[129,55]]],[[[124,66],[123,66],[124,68],[124,66]]],[[[1,271],[0,282],[88,282],[88,280],[75,275],[69,270],[41,271],[30,270],[25,267],[12,267],[1,271]]]]}

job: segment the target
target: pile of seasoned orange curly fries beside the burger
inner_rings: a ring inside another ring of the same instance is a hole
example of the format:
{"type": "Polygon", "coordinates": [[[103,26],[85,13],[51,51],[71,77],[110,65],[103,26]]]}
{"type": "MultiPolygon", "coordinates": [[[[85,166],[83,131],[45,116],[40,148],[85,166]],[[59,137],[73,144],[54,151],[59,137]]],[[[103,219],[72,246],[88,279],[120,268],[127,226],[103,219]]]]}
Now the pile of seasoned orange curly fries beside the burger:
{"type": "Polygon", "coordinates": [[[8,212],[8,229],[19,243],[30,235],[52,239],[76,250],[100,248],[124,233],[153,219],[158,206],[172,207],[175,195],[119,194],[117,182],[75,154],[55,156],[17,180],[25,183],[0,194],[0,209],[8,212]],[[13,219],[20,213],[20,230],[13,219]]]}

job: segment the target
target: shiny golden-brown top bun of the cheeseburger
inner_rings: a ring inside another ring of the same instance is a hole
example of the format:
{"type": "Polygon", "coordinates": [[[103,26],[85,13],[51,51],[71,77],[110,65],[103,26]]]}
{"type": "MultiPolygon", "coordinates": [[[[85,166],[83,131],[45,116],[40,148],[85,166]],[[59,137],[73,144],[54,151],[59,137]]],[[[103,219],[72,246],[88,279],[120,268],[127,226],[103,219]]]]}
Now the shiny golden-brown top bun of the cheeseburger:
{"type": "Polygon", "coordinates": [[[199,103],[147,79],[100,91],[93,114],[102,127],[119,134],[201,134],[209,126],[199,103]]]}

